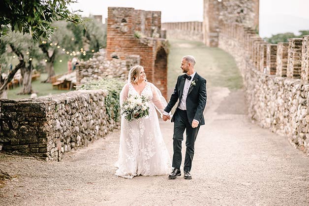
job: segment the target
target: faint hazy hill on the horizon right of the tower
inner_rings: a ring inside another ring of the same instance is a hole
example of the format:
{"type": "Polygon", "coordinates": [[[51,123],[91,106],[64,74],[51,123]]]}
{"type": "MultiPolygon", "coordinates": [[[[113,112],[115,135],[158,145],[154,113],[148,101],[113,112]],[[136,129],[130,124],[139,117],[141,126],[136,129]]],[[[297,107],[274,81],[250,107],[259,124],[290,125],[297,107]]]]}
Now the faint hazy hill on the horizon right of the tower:
{"type": "Polygon", "coordinates": [[[287,32],[298,34],[300,30],[309,30],[309,18],[290,15],[260,15],[259,27],[261,37],[287,32]]]}

